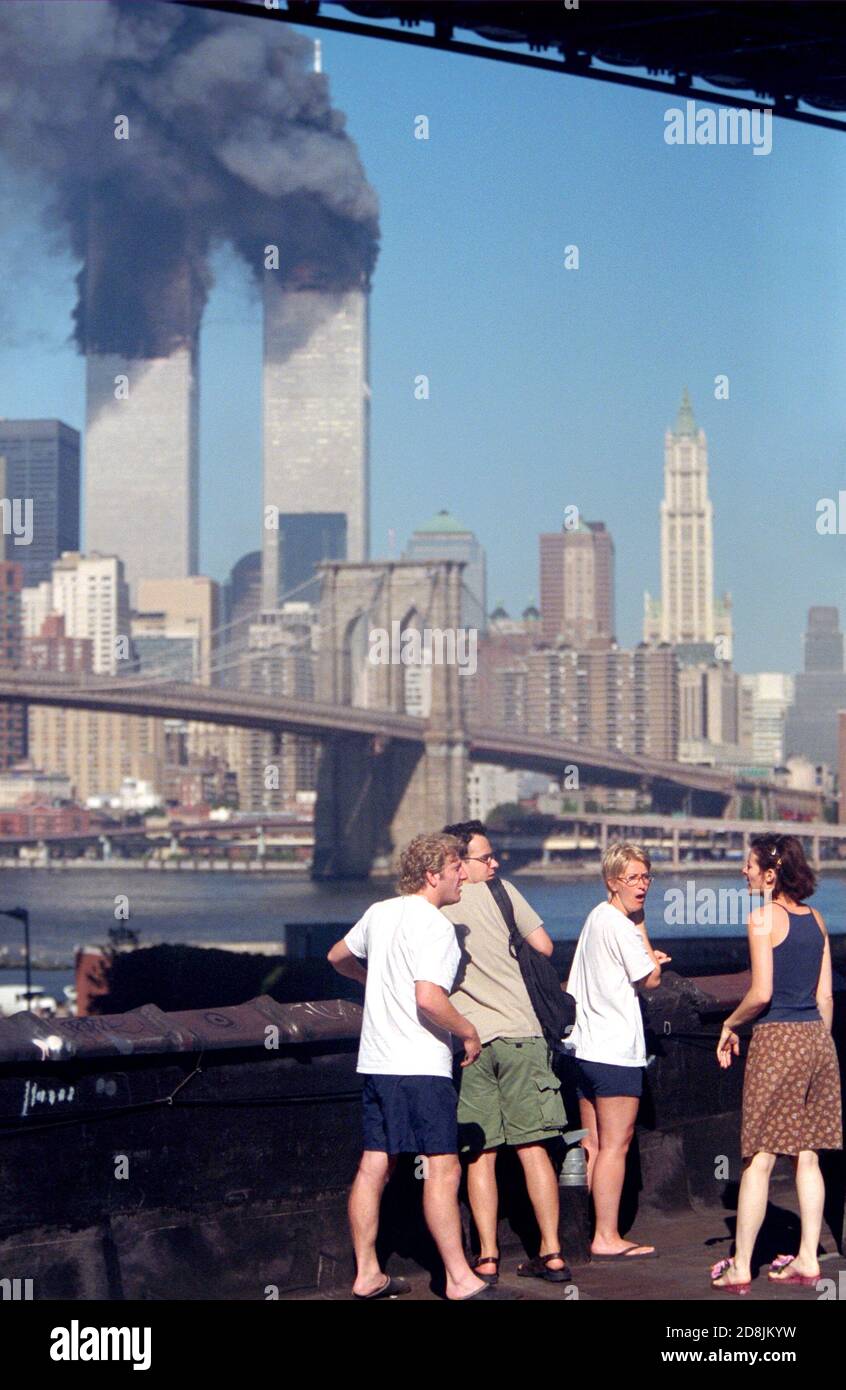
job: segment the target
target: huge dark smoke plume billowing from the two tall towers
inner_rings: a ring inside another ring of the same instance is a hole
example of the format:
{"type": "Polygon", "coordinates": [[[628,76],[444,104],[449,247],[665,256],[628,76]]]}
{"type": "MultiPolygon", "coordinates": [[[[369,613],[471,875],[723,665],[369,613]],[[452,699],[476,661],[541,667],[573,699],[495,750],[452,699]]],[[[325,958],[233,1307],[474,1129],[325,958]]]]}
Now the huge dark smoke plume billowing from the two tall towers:
{"type": "Polygon", "coordinates": [[[82,261],[82,352],[158,357],[188,343],[219,242],[292,289],[368,284],[376,196],[311,63],[307,39],[260,17],[160,0],[0,4],[0,152],[47,181],[82,261]]]}

